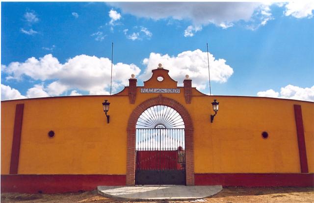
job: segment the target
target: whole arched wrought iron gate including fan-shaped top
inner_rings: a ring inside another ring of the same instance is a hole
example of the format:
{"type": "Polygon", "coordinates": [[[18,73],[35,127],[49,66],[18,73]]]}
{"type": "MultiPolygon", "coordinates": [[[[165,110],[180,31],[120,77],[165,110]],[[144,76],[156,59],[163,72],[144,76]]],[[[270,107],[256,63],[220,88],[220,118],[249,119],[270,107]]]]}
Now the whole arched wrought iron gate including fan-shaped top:
{"type": "Polygon", "coordinates": [[[135,184],[185,184],[184,123],[178,112],[159,105],[141,114],[135,163],[135,184]]]}

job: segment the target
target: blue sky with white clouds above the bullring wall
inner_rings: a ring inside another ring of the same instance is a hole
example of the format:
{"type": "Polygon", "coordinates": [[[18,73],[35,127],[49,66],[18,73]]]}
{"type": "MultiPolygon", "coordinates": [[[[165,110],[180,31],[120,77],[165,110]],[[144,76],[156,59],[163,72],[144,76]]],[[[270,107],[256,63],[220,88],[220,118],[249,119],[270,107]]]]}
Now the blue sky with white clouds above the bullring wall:
{"type": "Polygon", "coordinates": [[[214,95],[314,101],[313,1],[1,2],[1,100],[117,93],[158,63],[214,95]]]}

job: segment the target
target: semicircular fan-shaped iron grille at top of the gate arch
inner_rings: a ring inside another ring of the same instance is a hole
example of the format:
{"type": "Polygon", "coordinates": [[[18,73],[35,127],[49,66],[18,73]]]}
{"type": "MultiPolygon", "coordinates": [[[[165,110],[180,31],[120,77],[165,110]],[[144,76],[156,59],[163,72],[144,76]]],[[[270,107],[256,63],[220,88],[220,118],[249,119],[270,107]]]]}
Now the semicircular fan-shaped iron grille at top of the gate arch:
{"type": "Polygon", "coordinates": [[[136,128],[178,129],[184,128],[181,115],[168,106],[157,105],[146,109],[138,118],[136,128]]]}

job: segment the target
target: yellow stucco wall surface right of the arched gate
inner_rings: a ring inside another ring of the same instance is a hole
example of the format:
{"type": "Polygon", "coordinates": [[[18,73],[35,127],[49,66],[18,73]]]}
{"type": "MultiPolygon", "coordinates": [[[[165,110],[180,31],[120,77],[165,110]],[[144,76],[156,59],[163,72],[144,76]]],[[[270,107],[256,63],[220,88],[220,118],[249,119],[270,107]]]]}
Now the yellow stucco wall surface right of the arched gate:
{"type": "MultiPolygon", "coordinates": [[[[210,125],[209,108],[192,117],[195,173],[300,173],[299,148],[294,118],[294,104],[302,107],[309,172],[314,172],[314,104],[310,102],[258,97],[215,96],[219,112],[210,125]],[[203,121],[203,122],[202,122],[203,121]],[[306,122],[305,122],[306,121],[306,122]],[[203,123],[198,125],[197,123],[203,123]],[[262,138],[262,132],[268,138],[262,138]]],[[[200,97],[192,104],[209,103],[200,97]]],[[[208,106],[208,105],[207,105],[208,106]]]]}

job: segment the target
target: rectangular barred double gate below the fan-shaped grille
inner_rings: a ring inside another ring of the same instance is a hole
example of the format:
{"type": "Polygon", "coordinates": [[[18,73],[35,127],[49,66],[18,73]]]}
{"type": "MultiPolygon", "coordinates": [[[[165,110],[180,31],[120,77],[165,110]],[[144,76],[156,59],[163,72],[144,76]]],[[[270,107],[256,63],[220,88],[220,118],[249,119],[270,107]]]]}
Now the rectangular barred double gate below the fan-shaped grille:
{"type": "Polygon", "coordinates": [[[135,184],[185,184],[184,129],[137,128],[135,184]]]}

